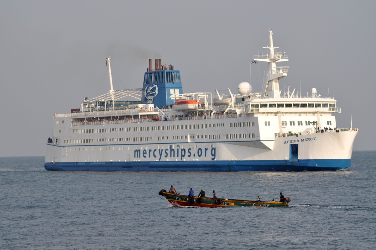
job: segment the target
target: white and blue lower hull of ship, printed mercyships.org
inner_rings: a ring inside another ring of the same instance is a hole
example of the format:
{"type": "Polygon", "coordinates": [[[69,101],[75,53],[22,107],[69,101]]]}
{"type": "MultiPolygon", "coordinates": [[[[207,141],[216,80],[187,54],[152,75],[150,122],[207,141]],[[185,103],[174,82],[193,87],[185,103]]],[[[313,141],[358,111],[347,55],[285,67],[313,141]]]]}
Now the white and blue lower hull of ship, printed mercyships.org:
{"type": "Polygon", "coordinates": [[[47,144],[52,171],[335,171],[351,166],[358,131],[213,143],[47,144]]]}

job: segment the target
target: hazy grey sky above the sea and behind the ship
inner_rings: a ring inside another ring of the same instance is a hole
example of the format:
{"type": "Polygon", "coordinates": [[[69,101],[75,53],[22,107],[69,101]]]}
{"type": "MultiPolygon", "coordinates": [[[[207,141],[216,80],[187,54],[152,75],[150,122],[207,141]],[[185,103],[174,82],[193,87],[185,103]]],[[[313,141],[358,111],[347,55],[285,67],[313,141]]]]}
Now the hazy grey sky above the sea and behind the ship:
{"type": "MultiPolygon", "coordinates": [[[[280,88],[334,96],[337,126],[352,117],[359,128],[353,150],[376,150],[375,9],[374,0],[1,1],[0,156],[45,155],[53,113],[110,89],[108,56],[115,89],[141,88],[149,58],[153,67],[161,58],[185,93],[237,93],[269,29],[289,57],[277,64],[290,67],[280,88]]],[[[252,64],[253,92],[266,66],[252,64]]]]}

